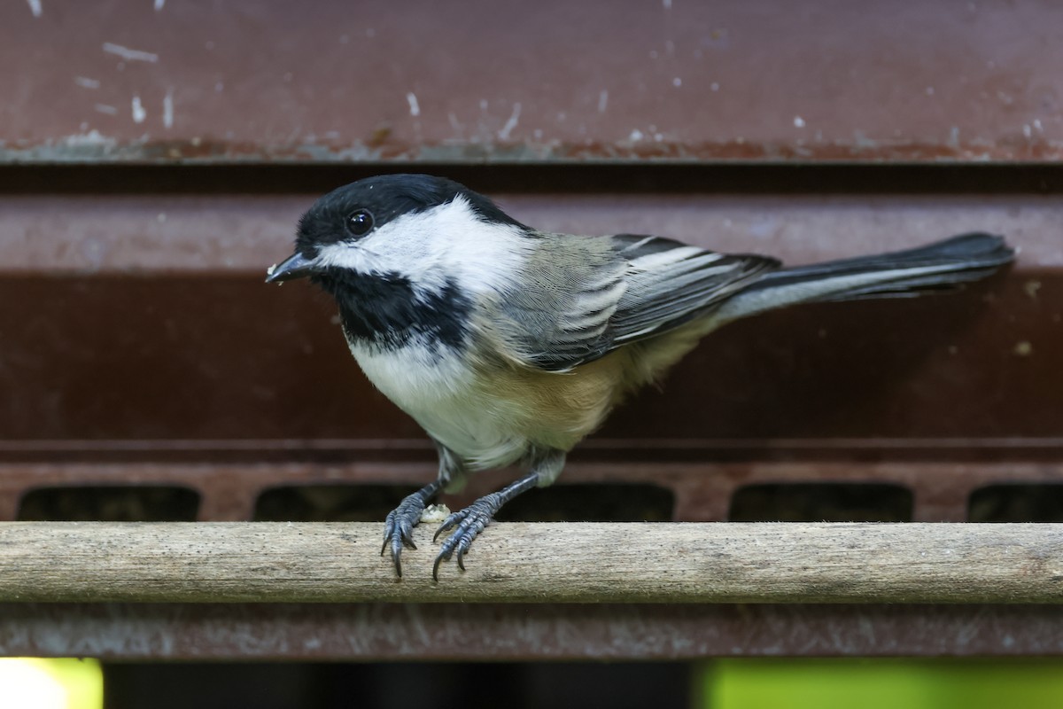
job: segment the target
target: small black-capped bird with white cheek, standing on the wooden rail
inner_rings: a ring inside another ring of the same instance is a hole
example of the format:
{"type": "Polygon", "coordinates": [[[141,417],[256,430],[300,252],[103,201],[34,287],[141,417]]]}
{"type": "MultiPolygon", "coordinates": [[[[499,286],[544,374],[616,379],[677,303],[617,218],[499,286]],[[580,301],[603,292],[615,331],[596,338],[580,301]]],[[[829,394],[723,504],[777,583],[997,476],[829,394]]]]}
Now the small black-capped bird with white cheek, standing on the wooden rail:
{"type": "Polygon", "coordinates": [[[526,473],[448,517],[433,567],[463,556],[499,509],[551,485],[566,454],[627,394],[658,379],[708,333],[797,303],[915,296],[982,278],[1012,260],[999,236],[811,266],[707,251],[660,236],[572,236],[513,219],[443,178],[388,174],[320,198],[296,252],[267,283],[309,277],[339,305],[369,379],[428,434],[435,480],[387,516],[403,547],[425,505],[470,473],[526,473]]]}

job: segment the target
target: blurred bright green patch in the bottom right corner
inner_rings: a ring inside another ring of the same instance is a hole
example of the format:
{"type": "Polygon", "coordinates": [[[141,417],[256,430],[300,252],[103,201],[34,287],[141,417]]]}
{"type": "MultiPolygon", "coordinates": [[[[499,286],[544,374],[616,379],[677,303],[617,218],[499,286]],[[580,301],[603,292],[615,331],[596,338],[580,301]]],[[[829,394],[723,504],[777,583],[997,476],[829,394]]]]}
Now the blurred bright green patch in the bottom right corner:
{"type": "Polygon", "coordinates": [[[698,685],[706,709],[1063,707],[1063,659],[721,659],[698,685]]]}

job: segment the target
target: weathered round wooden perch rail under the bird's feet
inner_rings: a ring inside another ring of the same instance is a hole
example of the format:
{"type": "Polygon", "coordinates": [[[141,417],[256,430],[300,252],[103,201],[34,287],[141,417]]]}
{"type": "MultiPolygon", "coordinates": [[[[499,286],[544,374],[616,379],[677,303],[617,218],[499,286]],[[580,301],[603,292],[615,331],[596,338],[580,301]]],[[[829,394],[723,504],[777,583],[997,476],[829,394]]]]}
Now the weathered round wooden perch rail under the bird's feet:
{"type": "Polygon", "coordinates": [[[500,523],[432,580],[370,523],[0,524],[0,602],[1059,603],[1061,524],[500,523]]]}

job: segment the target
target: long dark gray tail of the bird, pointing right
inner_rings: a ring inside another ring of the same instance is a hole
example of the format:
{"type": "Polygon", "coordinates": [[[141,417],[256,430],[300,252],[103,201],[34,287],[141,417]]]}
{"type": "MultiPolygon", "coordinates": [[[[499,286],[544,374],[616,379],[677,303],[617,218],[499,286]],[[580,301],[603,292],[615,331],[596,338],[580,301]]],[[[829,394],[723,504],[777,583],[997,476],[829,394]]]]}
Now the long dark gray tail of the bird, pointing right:
{"type": "Polygon", "coordinates": [[[766,273],[714,319],[733,320],[795,303],[908,298],[984,278],[1015,256],[993,234],[954,236],[917,249],[797,266],[766,273]]]}

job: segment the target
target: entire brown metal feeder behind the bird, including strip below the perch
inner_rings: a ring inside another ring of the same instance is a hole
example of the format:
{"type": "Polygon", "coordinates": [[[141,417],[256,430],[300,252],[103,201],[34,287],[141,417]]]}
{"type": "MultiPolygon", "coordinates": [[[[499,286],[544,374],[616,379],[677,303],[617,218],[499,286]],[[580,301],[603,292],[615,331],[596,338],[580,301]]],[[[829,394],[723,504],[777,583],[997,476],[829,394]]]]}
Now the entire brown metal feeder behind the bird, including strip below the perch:
{"type": "MultiPolygon", "coordinates": [[[[652,484],[674,519],[725,520],[750,485],[891,484],[911,519],[959,522],[986,486],[1063,482],[1054,3],[40,0],[0,28],[0,520],[52,488],[175,486],[198,519],[246,520],[285,486],[429,479],[331,304],[261,284],[317,195],[383,170],[544,229],[791,263],[971,230],[1020,248],[960,294],[736,323],[563,485],[652,484]]],[[[1059,612],[9,605],[0,653],[1058,655],[1059,612]]]]}

